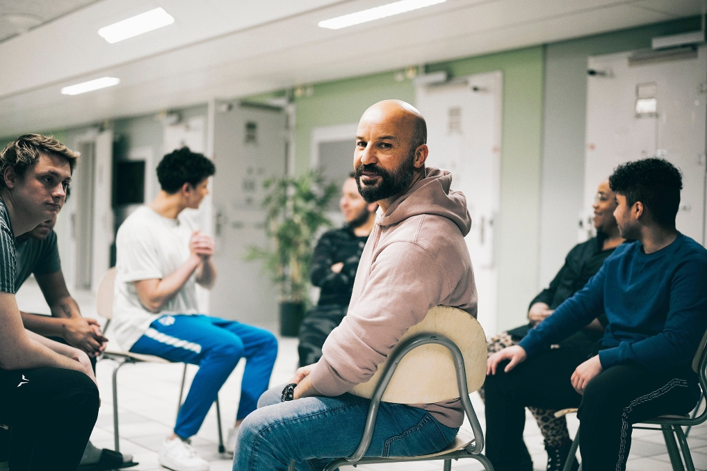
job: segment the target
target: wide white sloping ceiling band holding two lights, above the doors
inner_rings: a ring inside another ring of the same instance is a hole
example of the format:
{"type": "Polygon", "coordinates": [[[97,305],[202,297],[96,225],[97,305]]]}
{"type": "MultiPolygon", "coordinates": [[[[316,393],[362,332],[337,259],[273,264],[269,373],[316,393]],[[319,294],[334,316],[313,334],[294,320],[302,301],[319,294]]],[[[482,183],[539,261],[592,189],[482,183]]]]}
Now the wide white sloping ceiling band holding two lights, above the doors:
{"type": "Polygon", "coordinates": [[[689,2],[675,6],[672,0],[449,0],[440,8],[354,28],[316,26],[319,20],[375,4],[380,0],[339,2],[106,66],[81,80],[109,75],[122,82],[85,95],[59,94],[78,77],[72,82],[50,76],[45,85],[0,97],[0,136],[542,44],[694,11],[689,2]]]}

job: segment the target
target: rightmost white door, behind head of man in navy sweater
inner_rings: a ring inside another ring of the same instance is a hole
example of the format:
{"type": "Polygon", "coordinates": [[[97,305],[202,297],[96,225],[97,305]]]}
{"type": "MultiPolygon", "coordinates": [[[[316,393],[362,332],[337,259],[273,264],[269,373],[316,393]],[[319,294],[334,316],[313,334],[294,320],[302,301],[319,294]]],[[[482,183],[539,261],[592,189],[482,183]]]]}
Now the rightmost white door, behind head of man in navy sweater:
{"type": "Polygon", "coordinates": [[[643,64],[629,64],[632,54],[588,60],[598,73],[588,77],[584,220],[591,222],[597,185],[614,167],[655,155],[682,172],[677,229],[704,245],[707,47],[643,64]]]}

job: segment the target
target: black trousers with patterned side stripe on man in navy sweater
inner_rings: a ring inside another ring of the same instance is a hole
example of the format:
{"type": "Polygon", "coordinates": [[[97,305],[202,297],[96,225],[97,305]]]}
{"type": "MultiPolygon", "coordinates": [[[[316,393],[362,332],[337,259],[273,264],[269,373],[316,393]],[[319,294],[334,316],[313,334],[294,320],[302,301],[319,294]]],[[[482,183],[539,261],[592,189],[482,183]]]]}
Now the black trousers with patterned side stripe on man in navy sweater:
{"type": "Polygon", "coordinates": [[[579,407],[584,471],[624,470],[632,424],[664,414],[686,414],[697,403],[696,375],[689,366],[662,371],[625,364],[590,381],[584,395],[570,382],[595,348],[547,350],[503,373],[486,376],[486,455],[496,471],[532,470],[522,433],[525,407],[579,407]]]}

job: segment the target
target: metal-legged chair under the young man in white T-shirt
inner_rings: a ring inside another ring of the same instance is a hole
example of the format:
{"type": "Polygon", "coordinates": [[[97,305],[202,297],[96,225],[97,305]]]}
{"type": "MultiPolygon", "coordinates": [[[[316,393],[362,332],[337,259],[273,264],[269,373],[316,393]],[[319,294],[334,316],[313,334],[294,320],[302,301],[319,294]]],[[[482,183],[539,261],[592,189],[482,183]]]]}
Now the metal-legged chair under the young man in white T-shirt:
{"type": "MultiPolygon", "coordinates": [[[[96,293],[96,311],[98,315],[107,319],[104,330],[110,325],[113,318],[113,294],[115,289],[115,267],[110,268],[98,285],[96,293]]],[[[120,441],[118,434],[118,370],[126,364],[137,363],[173,363],[161,357],[153,355],[144,355],[132,352],[121,352],[119,350],[106,350],[103,352],[101,359],[110,359],[117,363],[113,369],[113,434],[115,438],[115,451],[120,451],[120,441]]],[[[177,414],[182,407],[182,396],[184,395],[184,384],[187,378],[187,364],[184,364],[184,372],[182,373],[182,385],[180,386],[179,403],[177,404],[177,414]]],[[[218,453],[224,453],[226,447],[223,446],[223,432],[221,428],[221,405],[218,403],[218,395],[216,395],[216,427],[218,427],[218,453]]]]}

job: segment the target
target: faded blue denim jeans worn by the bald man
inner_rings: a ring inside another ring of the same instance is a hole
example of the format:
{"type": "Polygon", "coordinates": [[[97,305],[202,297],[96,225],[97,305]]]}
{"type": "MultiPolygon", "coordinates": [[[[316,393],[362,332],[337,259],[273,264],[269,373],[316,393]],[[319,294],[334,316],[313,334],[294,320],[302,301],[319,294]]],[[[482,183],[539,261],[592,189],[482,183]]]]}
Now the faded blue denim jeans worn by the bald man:
{"type": "MultiPolygon", "coordinates": [[[[258,410],[238,430],[233,471],[318,471],[351,455],[361,441],[370,400],[343,394],[280,403],[284,385],[268,390],[258,410]]],[[[366,456],[411,456],[445,448],[458,429],[445,427],[425,410],[380,403],[373,440],[366,456]]]]}

